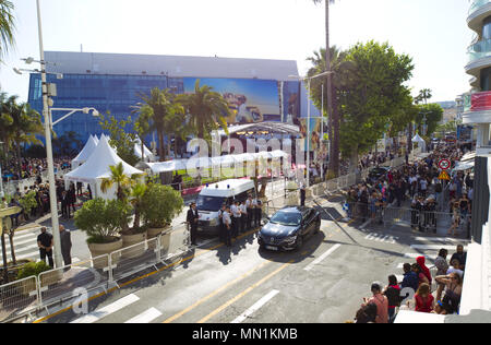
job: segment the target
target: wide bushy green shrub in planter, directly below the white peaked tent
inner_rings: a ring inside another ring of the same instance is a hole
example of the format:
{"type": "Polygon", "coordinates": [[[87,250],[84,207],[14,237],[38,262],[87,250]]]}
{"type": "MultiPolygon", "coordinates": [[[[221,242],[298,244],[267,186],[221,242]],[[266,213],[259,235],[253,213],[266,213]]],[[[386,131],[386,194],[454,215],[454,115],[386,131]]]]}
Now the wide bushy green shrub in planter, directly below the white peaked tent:
{"type": "Polygon", "coordinates": [[[87,233],[87,243],[108,243],[130,222],[131,206],[119,200],[94,199],[75,212],[75,226],[87,233]]]}

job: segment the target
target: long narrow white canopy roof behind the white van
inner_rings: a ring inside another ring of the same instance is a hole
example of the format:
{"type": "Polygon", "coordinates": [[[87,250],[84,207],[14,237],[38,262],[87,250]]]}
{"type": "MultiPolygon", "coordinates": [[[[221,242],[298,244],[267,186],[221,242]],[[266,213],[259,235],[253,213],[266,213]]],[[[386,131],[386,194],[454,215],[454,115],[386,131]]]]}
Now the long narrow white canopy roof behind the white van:
{"type": "Polygon", "coordinates": [[[191,158],[176,159],[160,163],[146,163],[145,167],[149,168],[153,174],[169,172],[185,169],[206,169],[211,167],[231,166],[237,163],[255,162],[259,159],[280,159],[288,158],[288,154],[282,150],[259,153],[243,153],[237,155],[216,156],[212,158],[191,158]]]}

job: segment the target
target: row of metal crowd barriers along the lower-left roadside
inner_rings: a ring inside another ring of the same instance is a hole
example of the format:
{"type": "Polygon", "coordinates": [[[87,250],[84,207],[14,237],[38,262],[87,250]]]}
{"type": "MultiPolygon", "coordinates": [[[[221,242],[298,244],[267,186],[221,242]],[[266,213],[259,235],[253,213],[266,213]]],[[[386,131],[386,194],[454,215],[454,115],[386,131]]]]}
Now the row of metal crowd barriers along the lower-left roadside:
{"type": "Polygon", "coordinates": [[[117,250],[109,254],[72,263],[0,286],[0,322],[32,316],[55,304],[71,300],[74,290],[107,290],[118,282],[143,270],[166,265],[189,250],[185,226],[173,227],[155,238],[117,250]],[[169,252],[170,235],[184,231],[182,245],[169,252]]]}

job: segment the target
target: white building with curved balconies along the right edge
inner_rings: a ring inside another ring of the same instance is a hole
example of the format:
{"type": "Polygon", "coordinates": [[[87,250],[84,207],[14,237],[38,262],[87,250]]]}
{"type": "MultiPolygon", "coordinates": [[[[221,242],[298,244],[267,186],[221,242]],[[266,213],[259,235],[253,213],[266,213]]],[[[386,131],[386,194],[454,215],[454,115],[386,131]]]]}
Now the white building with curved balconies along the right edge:
{"type": "Polygon", "coordinates": [[[460,314],[470,314],[476,321],[491,322],[491,1],[475,0],[467,17],[475,39],[468,48],[465,67],[471,75],[471,91],[464,95],[464,124],[477,132],[476,163],[472,195],[472,242],[468,247],[460,314]],[[480,311],[479,311],[480,310],[480,311]],[[481,312],[481,313],[479,313],[481,312]]]}

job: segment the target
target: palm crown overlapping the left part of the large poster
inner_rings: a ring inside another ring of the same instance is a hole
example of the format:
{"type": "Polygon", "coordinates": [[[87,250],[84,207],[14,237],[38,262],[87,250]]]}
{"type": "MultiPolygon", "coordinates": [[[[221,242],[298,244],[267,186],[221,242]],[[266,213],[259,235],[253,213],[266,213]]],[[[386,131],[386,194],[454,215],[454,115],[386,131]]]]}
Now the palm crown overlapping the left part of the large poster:
{"type": "Polygon", "coordinates": [[[194,130],[199,139],[209,139],[211,132],[221,126],[228,134],[225,118],[230,115],[227,100],[212,86],[200,86],[200,80],[194,84],[194,93],[179,95],[178,102],[182,104],[188,115],[188,124],[194,130]]]}

